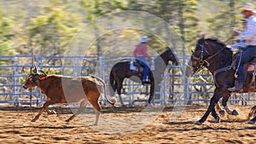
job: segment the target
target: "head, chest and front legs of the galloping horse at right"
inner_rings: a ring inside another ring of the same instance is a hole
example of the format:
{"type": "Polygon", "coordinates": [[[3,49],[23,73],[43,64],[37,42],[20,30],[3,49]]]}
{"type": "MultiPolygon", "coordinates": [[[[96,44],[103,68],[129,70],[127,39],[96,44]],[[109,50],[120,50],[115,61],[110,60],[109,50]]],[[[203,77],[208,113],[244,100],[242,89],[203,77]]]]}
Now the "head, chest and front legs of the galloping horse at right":
{"type": "MultiPolygon", "coordinates": [[[[220,117],[215,111],[215,106],[218,106],[218,100],[220,98],[223,98],[222,105],[229,114],[238,114],[236,110],[231,111],[227,106],[227,101],[230,98],[228,88],[233,87],[235,84],[235,70],[231,64],[232,51],[224,43],[219,42],[215,38],[205,37],[201,37],[197,41],[195,52],[191,55],[190,66],[186,68],[186,75],[191,76],[202,67],[207,67],[213,75],[216,89],[214,90],[207,112],[195,124],[204,123],[210,112],[212,112],[215,121],[220,122],[220,117]]],[[[224,110],[220,110],[219,112],[220,114],[224,114],[224,110]]]]}

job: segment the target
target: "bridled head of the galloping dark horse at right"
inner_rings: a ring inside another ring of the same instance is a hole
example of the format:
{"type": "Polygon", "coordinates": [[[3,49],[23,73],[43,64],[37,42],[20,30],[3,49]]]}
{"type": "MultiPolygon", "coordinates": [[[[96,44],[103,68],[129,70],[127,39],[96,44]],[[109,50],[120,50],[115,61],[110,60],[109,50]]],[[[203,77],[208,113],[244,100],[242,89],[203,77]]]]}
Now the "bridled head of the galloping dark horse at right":
{"type": "Polygon", "coordinates": [[[202,67],[209,66],[207,59],[211,56],[212,50],[211,43],[207,43],[205,37],[201,37],[197,41],[195,51],[192,51],[189,65],[186,67],[186,75],[188,77],[195,74],[202,67]]]}

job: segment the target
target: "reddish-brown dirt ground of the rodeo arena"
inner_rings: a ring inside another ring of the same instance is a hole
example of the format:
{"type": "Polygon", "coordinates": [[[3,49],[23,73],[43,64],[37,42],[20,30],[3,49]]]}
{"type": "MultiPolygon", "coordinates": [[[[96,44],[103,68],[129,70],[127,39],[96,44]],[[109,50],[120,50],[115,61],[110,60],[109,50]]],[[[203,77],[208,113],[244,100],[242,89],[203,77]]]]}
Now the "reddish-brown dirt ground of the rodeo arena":
{"type": "MultiPolygon", "coordinates": [[[[235,106],[230,106],[234,108],[235,106]]],[[[201,118],[207,107],[189,106],[177,118],[172,118],[173,107],[154,113],[156,118],[142,128],[130,129],[143,123],[141,117],[151,117],[151,112],[142,112],[142,107],[103,107],[99,125],[92,126],[95,113],[85,113],[89,124],[80,118],[66,123],[72,115],[67,108],[55,109],[58,114],[48,115],[46,112],[32,123],[31,119],[38,113],[38,108],[0,107],[0,141],[1,143],[255,143],[256,124],[247,124],[247,113],[250,107],[236,107],[239,116],[224,116],[220,124],[213,123],[210,115],[202,125],[193,124],[201,118]],[[90,118],[91,115],[91,118],[90,118]],[[122,126],[111,118],[121,118],[122,126]],[[130,119],[129,119],[130,118],[130,119]],[[137,118],[137,119],[136,119],[137,118]],[[135,121],[133,121],[135,120],[135,121]],[[126,124],[126,125],[125,125],[126,124]],[[102,126],[101,126],[102,125],[102,126]],[[110,126],[111,133],[104,130],[110,126]],[[126,131],[125,131],[126,130],[126,131]],[[130,130],[130,131],[129,131],[130,130]]],[[[90,111],[90,108],[88,108],[90,111]]],[[[91,110],[92,111],[92,110],[91,110]]],[[[137,127],[138,128],[138,127],[137,127]]]]}

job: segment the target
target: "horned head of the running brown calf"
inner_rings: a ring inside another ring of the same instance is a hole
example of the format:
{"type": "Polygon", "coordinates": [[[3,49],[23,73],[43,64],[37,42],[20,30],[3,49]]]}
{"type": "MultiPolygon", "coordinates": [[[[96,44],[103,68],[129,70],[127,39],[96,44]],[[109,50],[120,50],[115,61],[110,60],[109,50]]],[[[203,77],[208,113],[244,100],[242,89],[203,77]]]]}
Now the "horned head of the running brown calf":
{"type": "Polygon", "coordinates": [[[28,89],[37,86],[38,81],[43,80],[46,78],[46,76],[46,73],[40,70],[38,71],[36,66],[34,66],[33,69],[30,67],[30,74],[26,78],[26,82],[23,84],[23,88],[28,89]]]}

